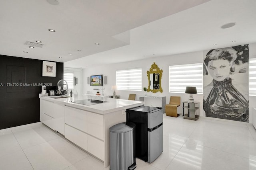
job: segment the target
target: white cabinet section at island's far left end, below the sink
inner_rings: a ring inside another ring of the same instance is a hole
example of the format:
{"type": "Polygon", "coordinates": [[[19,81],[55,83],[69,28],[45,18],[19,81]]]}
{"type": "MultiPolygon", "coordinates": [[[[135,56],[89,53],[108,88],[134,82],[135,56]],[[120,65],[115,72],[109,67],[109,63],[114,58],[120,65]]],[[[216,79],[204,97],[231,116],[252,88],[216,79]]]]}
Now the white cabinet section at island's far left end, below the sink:
{"type": "Polygon", "coordinates": [[[40,121],[64,135],[64,105],[40,100],[40,121]]]}

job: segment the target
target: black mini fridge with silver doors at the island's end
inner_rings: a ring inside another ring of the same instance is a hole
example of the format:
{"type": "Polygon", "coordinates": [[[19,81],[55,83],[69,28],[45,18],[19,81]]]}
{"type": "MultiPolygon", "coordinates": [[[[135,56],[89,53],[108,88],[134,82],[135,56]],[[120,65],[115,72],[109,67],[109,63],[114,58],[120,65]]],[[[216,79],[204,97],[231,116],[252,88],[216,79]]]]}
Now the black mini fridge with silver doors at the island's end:
{"type": "Polygon", "coordinates": [[[126,109],[126,121],[136,125],[136,157],[153,162],[163,152],[163,110],[139,106],[126,109]]]}

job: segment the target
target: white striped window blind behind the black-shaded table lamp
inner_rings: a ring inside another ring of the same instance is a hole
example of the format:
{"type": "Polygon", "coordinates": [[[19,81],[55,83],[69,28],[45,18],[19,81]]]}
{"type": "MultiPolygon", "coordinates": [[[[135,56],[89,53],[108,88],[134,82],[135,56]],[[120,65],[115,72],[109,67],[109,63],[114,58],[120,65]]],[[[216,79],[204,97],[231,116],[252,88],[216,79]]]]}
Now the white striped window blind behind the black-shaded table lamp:
{"type": "Polygon", "coordinates": [[[185,93],[186,86],[203,93],[203,63],[169,66],[169,92],[185,93]]]}

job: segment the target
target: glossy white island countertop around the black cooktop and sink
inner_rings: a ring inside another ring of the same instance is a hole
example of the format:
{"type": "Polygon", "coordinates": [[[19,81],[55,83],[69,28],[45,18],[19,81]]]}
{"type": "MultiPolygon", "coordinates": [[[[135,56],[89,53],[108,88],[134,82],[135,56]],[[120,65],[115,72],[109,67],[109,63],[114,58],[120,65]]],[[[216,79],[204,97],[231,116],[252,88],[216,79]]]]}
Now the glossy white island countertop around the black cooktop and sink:
{"type": "Polygon", "coordinates": [[[83,104],[76,104],[71,101],[90,99],[90,96],[81,95],[81,96],[73,96],[73,97],[69,97],[69,98],[60,98],[60,99],[54,99],[52,97],[58,97],[58,96],[42,97],[39,94],[39,98],[42,100],[48,100],[48,101],[54,102],[54,103],[65,104],[66,106],[83,109],[86,111],[91,111],[91,112],[99,113],[102,115],[104,115],[106,113],[111,113],[114,111],[120,111],[123,109],[129,109],[132,107],[144,105],[144,102],[140,102],[140,101],[106,98],[104,100],[104,101],[108,101],[106,103],[100,103],[100,104],[94,104],[94,105],[87,106],[87,105],[83,105],[83,104]]]}

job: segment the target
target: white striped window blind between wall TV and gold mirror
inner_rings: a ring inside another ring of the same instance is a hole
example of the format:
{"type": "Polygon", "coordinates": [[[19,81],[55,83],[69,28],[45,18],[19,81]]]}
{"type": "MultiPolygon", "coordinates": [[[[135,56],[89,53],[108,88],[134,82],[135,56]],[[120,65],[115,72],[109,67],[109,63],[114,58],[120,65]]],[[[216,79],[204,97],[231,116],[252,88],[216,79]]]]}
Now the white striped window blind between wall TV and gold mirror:
{"type": "Polygon", "coordinates": [[[116,71],[117,90],[142,90],[142,69],[116,71]]]}

